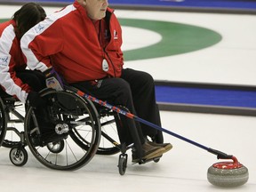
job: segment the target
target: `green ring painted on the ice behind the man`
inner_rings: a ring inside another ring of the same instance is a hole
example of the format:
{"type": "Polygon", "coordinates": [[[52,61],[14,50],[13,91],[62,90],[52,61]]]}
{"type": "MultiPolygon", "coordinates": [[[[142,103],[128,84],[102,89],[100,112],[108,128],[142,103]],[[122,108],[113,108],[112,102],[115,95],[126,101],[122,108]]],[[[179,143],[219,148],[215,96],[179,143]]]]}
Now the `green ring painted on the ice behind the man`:
{"type": "MultiPolygon", "coordinates": [[[[122,26],[155,31],[161,40],[147,47],[124,51],[124,60],[146,60],[158,57],[195,52],[221,41],[219,33],[188,24],[159,20],[119,19],[122,26]]],[[[136,36],[136,34],[129,34],[136,36]]],[[[140,36],[146,38],[146,36],[140,36]]]]}

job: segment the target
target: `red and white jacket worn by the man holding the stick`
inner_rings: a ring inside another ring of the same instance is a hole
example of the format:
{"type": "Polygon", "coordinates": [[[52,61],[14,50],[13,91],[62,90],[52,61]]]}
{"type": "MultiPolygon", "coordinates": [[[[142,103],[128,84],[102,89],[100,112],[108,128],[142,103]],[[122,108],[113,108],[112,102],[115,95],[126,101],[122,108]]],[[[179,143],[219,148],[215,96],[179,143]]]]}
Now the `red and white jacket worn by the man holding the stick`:
{"type": "Polygon", "coordinates": [[[109,8],[104,21],[109,26],[110,38],[102,48],[101,35],[83,6],[75,2],[53,13],[21,39],[28,67],[44,71],[53,66],[68,84],[121,76],[121,26],[109,8]],[[103,68],[103,60],[108,62],[107,69],[103,68]]]}

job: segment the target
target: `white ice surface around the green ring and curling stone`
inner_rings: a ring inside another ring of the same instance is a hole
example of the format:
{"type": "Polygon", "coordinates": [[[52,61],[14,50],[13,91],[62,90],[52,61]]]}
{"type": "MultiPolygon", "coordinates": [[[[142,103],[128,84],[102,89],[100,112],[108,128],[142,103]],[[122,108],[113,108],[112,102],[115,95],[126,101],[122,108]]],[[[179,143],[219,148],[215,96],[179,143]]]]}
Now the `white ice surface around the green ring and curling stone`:
{"type": "MultiPolygon", "coordinates": [[[[0,18],[10,18],[19,6],[0,5],[0,18]]],[[[50,14],[58,10],[45,7],[50,14]]],[[[120,18],[165,20],[202,26],[218,31],[223,40],[204,50],[182,55],[127,61],[126,67],[148,71],[155,79],[217,84],[256,83],[256,17],[247,14],[213,14],[196,12],[148,12],[116,10],[120,18]]],[[[124,27],[124,50],[147,46],[136,34],[136,28],[124,27]]],[[[150,34],[148,32],[148,34],[150,34]]],[[[151,36],[145,39],[150,39],[151,36]]],[[[151,39],[150,39],[151,40],[151,39]]],[[[161,51],[161,50],[159,50],[161,51]]],[[[159,163],[132,164],[124,176],[117,170],[118,156],[95,156],[75,172],[49,170],[28,151],[28,164],[15,167],[9,160],[9,149],[0,148],[1,191],[243,191],[256,189],[255,117],[161,111],[163,127],[205,146],[232,154],[249,169],[250,178],[240,188],[216,188],[208,183],[208,167],[216,156],[182,140],[164,134],[173,148],[159,163]]]]}

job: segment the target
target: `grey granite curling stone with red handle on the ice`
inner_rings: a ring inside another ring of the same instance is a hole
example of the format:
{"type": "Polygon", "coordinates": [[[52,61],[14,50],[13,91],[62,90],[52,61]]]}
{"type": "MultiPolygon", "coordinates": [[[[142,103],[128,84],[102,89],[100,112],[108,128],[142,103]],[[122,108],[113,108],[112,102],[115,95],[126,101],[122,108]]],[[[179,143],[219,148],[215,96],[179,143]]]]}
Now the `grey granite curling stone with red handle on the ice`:
{"type": "Polygon", "coordinates": [[[212,164],[207,172],[207,179],[212,185],[222,188],[234,188],[247,182],[248,169],[240,164],[235,156],[233,162],[220,162],[212,164]]]}

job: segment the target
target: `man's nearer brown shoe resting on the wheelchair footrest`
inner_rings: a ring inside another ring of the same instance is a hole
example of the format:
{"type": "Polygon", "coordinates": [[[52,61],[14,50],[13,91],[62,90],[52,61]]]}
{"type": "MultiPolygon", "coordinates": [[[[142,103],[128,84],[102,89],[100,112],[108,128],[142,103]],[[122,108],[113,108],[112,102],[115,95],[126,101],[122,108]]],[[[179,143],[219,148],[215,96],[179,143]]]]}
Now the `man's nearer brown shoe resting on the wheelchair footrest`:
{"type": "Polygon", "coordinates": [[[141,159],[137,156],[136,151],[132,149],[132,163],[139,163],[140,160],[142,161],[148,161],[154,158],[157,158],[159,156],[162,156],[165,149],[162,147],[156,147],[152,146],[146,141],[142,145],[142,150],[144,152],[144,155],[141,157],[141,159]]]}

